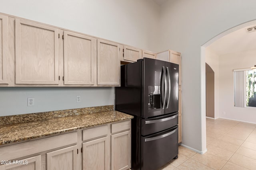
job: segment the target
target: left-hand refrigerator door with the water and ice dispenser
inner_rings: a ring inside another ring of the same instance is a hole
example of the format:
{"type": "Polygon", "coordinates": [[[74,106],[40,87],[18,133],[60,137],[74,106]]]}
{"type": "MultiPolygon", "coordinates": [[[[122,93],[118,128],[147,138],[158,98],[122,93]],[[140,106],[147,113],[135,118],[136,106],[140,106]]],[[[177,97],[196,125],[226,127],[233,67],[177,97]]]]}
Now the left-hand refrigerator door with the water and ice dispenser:
{"type": "Polygon", "coordinates": [[[167,96],[165,62],[142,60],[142,115],[147,118],[165,113],[167,96]]]}

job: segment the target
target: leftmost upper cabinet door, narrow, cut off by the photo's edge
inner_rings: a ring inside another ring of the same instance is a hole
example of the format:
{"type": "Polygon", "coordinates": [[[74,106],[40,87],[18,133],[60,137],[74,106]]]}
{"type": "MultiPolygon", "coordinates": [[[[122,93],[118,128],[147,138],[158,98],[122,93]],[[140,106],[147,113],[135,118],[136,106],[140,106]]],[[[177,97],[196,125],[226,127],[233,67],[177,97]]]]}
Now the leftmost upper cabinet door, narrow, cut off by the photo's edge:
{"type": "Polygon", "coordinates": [[[0,84],[8,84],[8,17],[0,15],[0,84]]]}

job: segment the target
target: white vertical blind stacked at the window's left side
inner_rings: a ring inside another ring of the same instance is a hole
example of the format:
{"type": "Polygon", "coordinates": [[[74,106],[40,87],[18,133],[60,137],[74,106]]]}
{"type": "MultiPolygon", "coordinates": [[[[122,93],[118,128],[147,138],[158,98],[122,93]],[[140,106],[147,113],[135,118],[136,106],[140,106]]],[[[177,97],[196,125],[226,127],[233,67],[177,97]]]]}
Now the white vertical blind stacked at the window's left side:
{"type": "Polygon", "coordinates": [[[234,71],[234,106],[246,107],[246,71],[234,71]]]}

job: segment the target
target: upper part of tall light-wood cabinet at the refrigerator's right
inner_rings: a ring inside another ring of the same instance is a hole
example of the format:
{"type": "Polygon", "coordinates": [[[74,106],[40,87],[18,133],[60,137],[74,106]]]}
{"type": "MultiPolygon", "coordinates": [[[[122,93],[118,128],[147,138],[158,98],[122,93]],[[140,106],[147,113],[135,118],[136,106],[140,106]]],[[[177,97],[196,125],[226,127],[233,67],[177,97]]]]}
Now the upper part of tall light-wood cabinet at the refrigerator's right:
{"type": "Polygon", "coordinates": [[[181,54],[176,51],[168,50],[158,53],[156,59],[179,64],[179,85],[181,85],[181,54]]]}

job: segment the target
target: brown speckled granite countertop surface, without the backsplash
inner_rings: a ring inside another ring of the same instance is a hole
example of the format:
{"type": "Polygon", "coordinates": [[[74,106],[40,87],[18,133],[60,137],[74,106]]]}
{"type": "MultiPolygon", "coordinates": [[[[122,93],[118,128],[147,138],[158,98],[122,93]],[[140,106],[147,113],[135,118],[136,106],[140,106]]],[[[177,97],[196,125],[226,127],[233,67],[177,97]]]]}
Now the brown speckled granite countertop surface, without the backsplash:
{"type": "Polygon", "coordinates": [[[0,125],[0,147],[4,144],[26,141],[132,118],[132,115],[127,115],[119,111],[102,111],[98,113],[0,125]]]}

